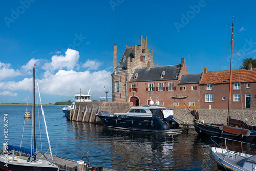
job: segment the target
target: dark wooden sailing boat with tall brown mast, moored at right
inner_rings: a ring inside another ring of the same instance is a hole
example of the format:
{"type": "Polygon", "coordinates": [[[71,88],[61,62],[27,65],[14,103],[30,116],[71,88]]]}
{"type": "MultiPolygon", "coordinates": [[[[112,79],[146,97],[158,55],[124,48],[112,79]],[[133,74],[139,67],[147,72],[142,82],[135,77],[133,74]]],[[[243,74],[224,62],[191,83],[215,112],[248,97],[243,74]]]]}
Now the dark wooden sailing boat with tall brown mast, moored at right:
{"type": "Polygon", "coordinates": [[[234,28],[234,17],[232,21],[232,36],[231,36],[231,61],[230,61],[230,78],[229,78],[229,101],[228,101],[228,113],[227,113],[227,126],[220,124],[205,124],[199,123],[199,114],[194,110],[190,110],[191,114],[194,116],[194,127],[198,134],[206,136],[221,136],[221,137],[230,137],[238,139],[248,139],[256,140],[256,127],[250,126],[244,123],[243,121],[237,119],[231,119],[230,117],[230,106],[231,106],[231,90],[232,90],[232,60],[233,60],[233,28],[234,28]],[[232,127],[232,126],[238,127],[232,127]]]}

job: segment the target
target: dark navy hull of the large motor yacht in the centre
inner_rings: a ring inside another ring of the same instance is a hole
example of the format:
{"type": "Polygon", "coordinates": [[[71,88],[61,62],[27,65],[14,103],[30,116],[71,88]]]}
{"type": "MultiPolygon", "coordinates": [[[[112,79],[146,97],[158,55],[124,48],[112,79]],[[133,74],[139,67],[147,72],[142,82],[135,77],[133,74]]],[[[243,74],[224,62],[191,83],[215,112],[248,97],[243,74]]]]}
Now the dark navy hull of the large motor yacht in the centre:
{"type": "MultiPolygon", "coordinates": [[[[161,117],[112,117],[100,116],[98,117],[106,127],[113,127],[118,129],[152,131],[152,132],[166,132],[166,133],[181,133],[181,129],[170,129],[169,124],[161,117]]],[[[174,124],[175,125],[175,124],[174,124]]],[[[178,125],[177,125],[178,127],[178,125]]]]}

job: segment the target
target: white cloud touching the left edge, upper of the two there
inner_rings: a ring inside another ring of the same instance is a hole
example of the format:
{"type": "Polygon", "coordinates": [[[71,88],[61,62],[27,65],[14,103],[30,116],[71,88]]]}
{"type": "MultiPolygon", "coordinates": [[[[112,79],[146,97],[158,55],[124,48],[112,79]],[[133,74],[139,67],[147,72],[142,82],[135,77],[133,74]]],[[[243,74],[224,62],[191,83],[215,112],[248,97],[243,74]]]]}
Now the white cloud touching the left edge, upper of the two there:
{"type": "Polygon", "coordinates": [[[22,73],[20,73],[18,70],[15,71],[12,69],[10,63],[5,64],[0,62],[0,80],[18,75],[22,75],[22,73]]]}

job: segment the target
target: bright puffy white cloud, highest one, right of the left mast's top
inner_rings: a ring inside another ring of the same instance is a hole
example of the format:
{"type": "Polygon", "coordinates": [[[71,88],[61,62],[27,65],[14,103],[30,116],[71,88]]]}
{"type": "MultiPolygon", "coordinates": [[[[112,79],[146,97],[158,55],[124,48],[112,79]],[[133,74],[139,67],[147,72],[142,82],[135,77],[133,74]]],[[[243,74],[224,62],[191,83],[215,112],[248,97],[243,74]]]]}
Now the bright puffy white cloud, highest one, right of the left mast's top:
{"type": "Polygon", "coordinates": [[[63,55],[54,55],[52,56],[52,61],[50,63],[45,63],[43,69],[55,71],[66,68],[72,70],[78,62],[79,52],[73,49],[67,49],[65,56],[63,55]]]}

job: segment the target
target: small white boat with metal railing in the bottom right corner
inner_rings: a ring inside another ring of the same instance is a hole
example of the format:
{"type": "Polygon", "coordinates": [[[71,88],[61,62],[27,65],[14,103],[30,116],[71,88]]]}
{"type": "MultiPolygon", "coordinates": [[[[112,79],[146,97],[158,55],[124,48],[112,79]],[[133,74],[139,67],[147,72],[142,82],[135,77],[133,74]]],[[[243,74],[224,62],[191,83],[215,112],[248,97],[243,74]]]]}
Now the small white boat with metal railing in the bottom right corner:
{"type": "Polygon", "coordinates": [[[214,142],[215,147],[211,148],[210,157],[212,160],[217,161],[218,169],[224,168],[224,170],[232,171],[256,170],[256,155],[248,154],[251,149],[256,149],[256,145],[216,136],[212,136],[211,140],[214,142]],[[218,140],[222,140],[222,145],[216,142],[218,140]],[[244,151],[249,149],[249,152],[244,153],[243,149],[244,151]]]}

